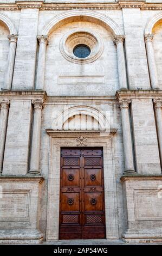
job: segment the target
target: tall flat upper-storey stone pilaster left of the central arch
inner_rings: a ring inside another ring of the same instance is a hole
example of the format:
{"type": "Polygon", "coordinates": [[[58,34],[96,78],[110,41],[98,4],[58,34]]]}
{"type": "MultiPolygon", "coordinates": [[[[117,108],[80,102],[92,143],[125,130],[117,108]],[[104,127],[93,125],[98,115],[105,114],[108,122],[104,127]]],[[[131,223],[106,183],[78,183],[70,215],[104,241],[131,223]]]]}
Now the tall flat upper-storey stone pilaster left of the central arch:
{"type": "Polygon", "coordinates": [[[33,90],[35,84],[38,9],[22,9],[12,90],[33,90]]]}

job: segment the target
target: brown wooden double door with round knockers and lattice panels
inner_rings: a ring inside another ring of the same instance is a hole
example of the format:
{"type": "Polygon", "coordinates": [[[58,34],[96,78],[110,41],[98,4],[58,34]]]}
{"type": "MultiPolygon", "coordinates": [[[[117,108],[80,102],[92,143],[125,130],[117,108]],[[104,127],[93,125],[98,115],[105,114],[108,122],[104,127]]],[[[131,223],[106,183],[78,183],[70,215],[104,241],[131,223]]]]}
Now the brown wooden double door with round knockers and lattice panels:
{"type": "Polygon", "coordinates": [[[62,148],[59,239],[103,239],[105,202],[101,148],[62,148]]]}

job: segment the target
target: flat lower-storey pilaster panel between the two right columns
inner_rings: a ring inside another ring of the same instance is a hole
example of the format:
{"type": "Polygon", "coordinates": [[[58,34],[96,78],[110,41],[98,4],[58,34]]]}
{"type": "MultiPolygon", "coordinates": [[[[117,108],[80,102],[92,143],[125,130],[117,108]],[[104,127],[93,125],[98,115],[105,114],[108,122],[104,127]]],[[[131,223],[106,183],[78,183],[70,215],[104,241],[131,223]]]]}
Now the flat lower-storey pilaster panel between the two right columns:
{"type": "Polygon", "coordinates": [[[160,159],[152,100],[132,100],[132,120],[137,172],[160,174],[160,159]]]}

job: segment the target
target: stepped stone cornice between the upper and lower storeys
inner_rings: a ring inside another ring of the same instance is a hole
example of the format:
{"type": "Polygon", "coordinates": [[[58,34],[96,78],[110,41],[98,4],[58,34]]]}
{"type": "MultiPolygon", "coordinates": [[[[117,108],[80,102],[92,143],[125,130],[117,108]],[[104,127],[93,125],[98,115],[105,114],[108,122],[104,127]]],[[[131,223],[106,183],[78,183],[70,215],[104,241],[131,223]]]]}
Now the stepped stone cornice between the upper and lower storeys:
{"type": "Polygon", "coordinates": [[[114,96],[48,96],[45,91],[0,92],[1,100],[43,100],[46,105],[66,104],[117,104],[120,100],[154,99],[162,100],[162,90],[118,90],[114,96]]]}

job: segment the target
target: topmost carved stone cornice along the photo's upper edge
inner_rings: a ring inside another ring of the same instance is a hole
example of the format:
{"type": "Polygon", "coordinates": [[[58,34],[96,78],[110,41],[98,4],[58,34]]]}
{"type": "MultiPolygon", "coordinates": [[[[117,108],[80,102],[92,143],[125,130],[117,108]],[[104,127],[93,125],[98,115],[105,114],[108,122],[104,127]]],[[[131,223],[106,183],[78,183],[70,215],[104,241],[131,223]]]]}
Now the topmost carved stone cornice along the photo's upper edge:
{"type": "Polygon", "coordinates": [[[43,3],[43,1],[22,1],[16,2],[15,4],[0,3],[0,11],[16,11],[21,9],[40,9],[41,11],[60,11],[74,9],[121,10],[122,8],[139,8],[141,10],[162,10],[162,3],[146,3],[145,1],[118,1],[118,3],[43,3]]]}

